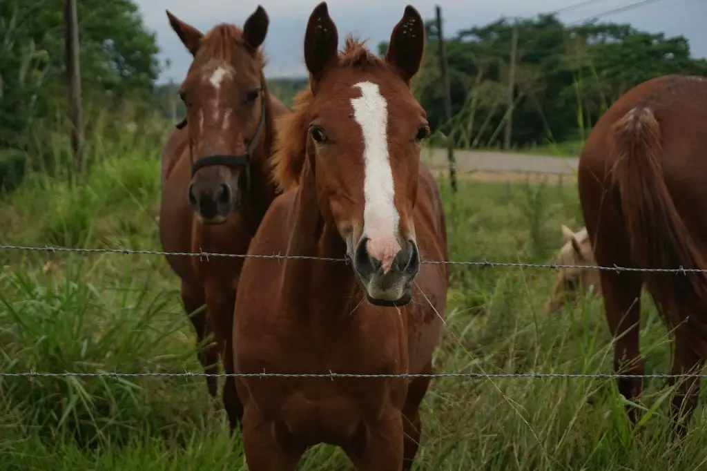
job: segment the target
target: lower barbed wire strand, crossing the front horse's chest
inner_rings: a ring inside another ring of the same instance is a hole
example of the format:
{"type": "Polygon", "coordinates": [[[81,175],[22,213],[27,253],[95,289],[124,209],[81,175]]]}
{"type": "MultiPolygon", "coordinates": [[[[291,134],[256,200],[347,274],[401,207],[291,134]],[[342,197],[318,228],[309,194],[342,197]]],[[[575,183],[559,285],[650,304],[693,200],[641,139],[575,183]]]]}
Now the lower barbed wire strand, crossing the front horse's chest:
{"type": "Polygon", "coordinates": [[[48,373],[41,371],[23,371],[19,373],[0,372],[0,378],[325,378],[325,379],[376,379],[376,378],[469,378],[469,379],[678,379],[707,378],[707,373],[684,374],[621,374],[621,373],[114,373],[99,371],[95,373],[48,373]]]}

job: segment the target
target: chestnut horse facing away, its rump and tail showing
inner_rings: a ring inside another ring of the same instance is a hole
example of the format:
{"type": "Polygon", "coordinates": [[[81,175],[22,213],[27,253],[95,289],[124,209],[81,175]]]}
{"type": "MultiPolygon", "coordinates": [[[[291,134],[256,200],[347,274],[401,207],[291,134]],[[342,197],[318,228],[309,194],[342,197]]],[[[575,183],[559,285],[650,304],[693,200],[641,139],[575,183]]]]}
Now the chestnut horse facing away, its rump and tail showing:
{"type": "MultiPolygon", "coordinates": [[[[707,80],[678,75],[641,83],[597,122],[580,156],[578,178],[598,264],[707,269],[706,122],[707,80]]],[[[707,274],[602,270],[600,277],[617,371],[645,372],[638,348],[643,284],[674,334],[672,374],[701,371],[707,274]]],[[[671,412],[682,436],[697,405],[699,378],[677,383],[671,412]]],[[[619,378],[618,388],[633,401],[643,381],[619,378]]],[[[636,410],[629,407],[628,413],[635,422],[636,410]]]]}

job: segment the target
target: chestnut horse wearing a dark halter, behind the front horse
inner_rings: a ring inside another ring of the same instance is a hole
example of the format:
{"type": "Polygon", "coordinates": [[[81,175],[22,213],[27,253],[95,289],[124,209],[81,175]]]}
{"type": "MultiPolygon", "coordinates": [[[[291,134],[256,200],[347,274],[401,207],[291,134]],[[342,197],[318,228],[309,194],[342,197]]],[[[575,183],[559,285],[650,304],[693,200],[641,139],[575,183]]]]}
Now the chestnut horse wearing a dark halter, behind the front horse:
{"type": "MultiPolygon", "coordinates": [[[[163,250],[243,254],[275,197],[268,161],[272,120],[289,112],[269,95],[263,74],[259,46],[268,16],[259,6],[243,30],[221,24],[202,35],[169,11],[167,15],[194,59],[180,88],[187,120],[172,132],[162,154],[163,250]]],[[[222,354],[226,373],[233,373],[230,333],[243,259],[167,260],[182,279],[182,302],[192,314],[198,342],[211,333],[216,337],[218,346],[199,351],[204,370],[218,373],[220,349],[228,352],[222,354]],[[199,310],[204,304],[206,310],[199,310]]],[[[216,397],[217,378],[206,378],[206,383],[216,397]]],[[[223,404],[233,429],[242,413],[233,378],[226,379],[223,404]]]]}

